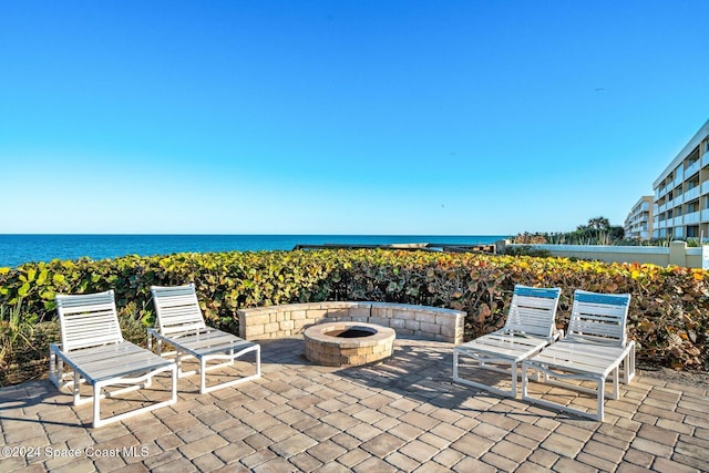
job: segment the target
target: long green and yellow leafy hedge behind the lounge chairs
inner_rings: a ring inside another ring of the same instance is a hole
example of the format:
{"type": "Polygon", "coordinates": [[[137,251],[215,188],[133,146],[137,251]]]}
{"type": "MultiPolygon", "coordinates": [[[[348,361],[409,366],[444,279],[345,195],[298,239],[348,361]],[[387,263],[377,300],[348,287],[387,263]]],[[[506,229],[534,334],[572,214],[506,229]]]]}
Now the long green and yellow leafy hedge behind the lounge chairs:
{"type": "MultiPolygon", "coordinates": [[[[561,287],[561,328],[568,322],[574,289],[629,292],[628,329],[639,361],[709,368],[709,275],[681,267],[383,249],[186,253],[0,268],[0,304],[12,308],[21,301],[25,318],[51,322],[56,292],[114,289],[125,326],[138,321],[140,329],[154,319],[150,287],[186,282],[195,282],[209,323],[234,332],[239,308],[378,300],[465,310],[466,338],[503,326],[515,284],[561,287]]],[[[144,342],[138,329],[131,330],[133,341],[144,342]]]]}

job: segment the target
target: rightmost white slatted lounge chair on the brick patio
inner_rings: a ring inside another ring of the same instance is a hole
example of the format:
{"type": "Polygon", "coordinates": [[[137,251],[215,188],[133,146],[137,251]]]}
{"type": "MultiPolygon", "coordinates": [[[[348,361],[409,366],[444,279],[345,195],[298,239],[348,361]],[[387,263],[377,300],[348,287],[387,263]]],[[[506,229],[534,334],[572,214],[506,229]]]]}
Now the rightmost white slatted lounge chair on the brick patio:
{"type": "Polygon", "coordinates": [[[626,384],[635,376],[635,341],[626,335],[629,305],[629,294],[576,290],[566,337],[522,363],[522,399],[603,422],[605,398],[619,397],[619,372],[626,384]],[[527,387],[530,370],[543,373],[545,383],[595,394],[596,412],[532,397],[527,387]],[[613,392],[606,393],[609,376],[613,392]],[[583,384],[595,384],[595,388],[583,384]]]}

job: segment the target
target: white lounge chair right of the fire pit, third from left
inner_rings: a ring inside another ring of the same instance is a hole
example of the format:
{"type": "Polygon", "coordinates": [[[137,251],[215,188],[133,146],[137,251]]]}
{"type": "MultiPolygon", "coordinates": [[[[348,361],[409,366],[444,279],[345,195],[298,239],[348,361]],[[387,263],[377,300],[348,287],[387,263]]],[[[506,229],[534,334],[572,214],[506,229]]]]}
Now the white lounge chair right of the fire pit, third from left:
{"type": "Polygon", "coordinates": [[[515,286],[505,326],[453,349],[453,380],[516,398],[520,362],[540,352],[562,335],[556,330],[554,320],[561,294],[559,288],[515,286]],[[463,357],[476,361],[475,368],[510,374],[511,389],[503,390],[463,378],[463,357]]]}

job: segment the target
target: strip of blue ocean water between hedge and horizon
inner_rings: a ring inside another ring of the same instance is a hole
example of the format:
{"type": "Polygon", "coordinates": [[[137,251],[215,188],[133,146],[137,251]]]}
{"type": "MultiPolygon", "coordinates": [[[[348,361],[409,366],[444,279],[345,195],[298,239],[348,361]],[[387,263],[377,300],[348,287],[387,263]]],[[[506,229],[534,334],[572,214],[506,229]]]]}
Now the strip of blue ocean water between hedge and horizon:
{"type": "Polygon", "coordinates": [[[0,267],[52,259],[196,251],[290,250],[296,245],[404,243],[484,245],[503,235],[0,235],[0,267]]]}

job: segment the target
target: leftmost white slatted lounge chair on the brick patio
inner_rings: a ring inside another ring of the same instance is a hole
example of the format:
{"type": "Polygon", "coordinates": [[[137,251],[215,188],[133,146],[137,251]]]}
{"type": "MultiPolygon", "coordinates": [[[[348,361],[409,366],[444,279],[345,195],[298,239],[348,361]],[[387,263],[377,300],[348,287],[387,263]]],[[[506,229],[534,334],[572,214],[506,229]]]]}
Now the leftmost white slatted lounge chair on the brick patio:
{"type": "Polygon", "coordinates": [[[177,401],[176,364],[123,339],[113,290],[56,295],[55,300],[62,342],[61,346],[50,345],[49,377],[59,389],[73,380],[74,405],[93,402],[94,428],[177,401]],[[72,372],[65,372],[64,364],[72,372]],[[152,378],[163,371],[171,371],[172,376],[172,397],[168,400],[101,419],[101,399],[147,388],[152,378]],[[83,382],[93,387],[93,394],[82,399],[80,387],[83,382]],[[115,385],[123,388],[104,389],[115,385]]]}

